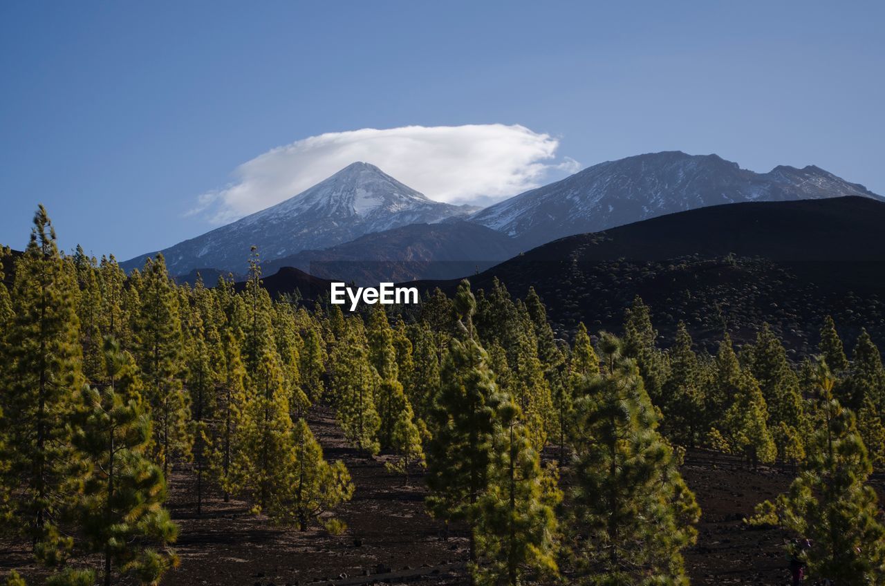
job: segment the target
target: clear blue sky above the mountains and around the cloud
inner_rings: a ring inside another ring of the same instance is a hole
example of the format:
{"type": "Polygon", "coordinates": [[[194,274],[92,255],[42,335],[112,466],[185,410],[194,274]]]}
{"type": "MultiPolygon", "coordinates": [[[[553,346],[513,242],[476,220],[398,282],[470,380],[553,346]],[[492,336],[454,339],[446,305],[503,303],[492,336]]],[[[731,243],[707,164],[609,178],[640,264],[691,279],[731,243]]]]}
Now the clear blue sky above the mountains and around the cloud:
{"type": "Polygon", "coordinates": [[[885,194],[883,24],[873,2],[4,2],[0,243],[42,202],[67,249],[157,250],[213,226],[188,212],[243,163],[366,127],[521,125],[581,166],[716,152],[885,194]]]}

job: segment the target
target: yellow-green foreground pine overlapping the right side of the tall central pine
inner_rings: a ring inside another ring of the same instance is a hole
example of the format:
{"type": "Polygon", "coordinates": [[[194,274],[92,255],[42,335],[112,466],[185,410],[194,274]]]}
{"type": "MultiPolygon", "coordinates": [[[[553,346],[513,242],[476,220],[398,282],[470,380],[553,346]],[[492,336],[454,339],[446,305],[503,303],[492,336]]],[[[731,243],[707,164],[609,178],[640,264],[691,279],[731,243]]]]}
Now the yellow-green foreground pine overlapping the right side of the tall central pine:
{"type": "Polygon", "coordinates": [[[516,586],[526,575],[556,574],[553,510],[562,495],[555,474],[541,469],[519,406],[505,400],[498,417],[489,490],[473,531],[480,561],[472,572],[480,583],[516,586]]]}

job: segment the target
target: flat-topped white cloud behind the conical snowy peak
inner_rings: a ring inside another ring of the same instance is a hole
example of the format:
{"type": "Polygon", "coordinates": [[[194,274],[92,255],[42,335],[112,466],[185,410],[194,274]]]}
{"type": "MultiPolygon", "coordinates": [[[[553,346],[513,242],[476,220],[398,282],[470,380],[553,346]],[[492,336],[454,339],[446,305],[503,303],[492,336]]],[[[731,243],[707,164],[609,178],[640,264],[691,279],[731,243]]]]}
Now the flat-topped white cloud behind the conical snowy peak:
{"type": "Polygon", "coordinates": [[[527,127],[362,128],[311,136],[267,151],[234,172],[235,181],[197,198],[189,212],[224,223],[278,204],[355,161],[365,161],[450,203],[492,201],[542,184],[550,172],[577,171],[573,158],[556,160],[558,139],[527,127]]]}

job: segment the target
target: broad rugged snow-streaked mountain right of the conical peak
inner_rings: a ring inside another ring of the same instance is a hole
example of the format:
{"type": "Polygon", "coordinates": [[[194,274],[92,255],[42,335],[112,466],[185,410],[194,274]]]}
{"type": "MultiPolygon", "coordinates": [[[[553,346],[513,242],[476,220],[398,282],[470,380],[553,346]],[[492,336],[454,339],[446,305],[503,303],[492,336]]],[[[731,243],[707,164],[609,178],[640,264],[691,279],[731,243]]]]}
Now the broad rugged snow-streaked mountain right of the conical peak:
{"type": "Polygon", "coordinates": [[[591,166],[481,210],[471,221],[531,247],[709,205],[841,196],[878,197],[816,166],[753,173],[717,155],[667,151],[591,166]]]}

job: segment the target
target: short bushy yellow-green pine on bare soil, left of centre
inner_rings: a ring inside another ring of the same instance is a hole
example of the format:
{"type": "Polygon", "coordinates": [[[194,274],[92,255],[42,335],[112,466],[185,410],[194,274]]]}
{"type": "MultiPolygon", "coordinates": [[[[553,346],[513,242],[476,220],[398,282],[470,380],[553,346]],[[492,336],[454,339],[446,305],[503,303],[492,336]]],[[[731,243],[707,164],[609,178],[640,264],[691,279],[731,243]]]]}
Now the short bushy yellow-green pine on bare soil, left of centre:
{"type": "Polygon", "coordinates": [[[354,487],[341,460],[329,464],[323,459],[322,448],[303,419],[292,427],[289,443],[286,482],[275,487],[267,513],[284,524],[296,522],[300,531],[306,531],[321,513],[350,500],[354,487]]]}

